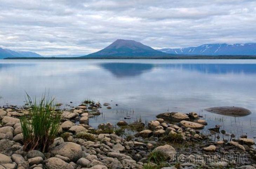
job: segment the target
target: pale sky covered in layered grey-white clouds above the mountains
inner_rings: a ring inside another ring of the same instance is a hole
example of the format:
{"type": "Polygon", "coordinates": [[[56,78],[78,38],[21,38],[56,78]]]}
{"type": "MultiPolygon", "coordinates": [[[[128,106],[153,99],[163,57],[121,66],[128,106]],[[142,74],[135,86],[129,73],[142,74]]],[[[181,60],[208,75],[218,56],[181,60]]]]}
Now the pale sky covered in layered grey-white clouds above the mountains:
{"type": "Polygon", "coordinates": [[[154,49],[256,42],[256,0],[0,0],[0,47],[89,54],[116,39],[154,49]]]}

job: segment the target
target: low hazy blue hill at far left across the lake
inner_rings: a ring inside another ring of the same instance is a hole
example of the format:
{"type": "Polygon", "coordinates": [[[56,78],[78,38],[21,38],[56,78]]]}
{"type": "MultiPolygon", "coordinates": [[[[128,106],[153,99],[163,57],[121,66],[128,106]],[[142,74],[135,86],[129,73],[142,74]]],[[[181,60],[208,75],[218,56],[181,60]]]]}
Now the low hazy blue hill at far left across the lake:
{"type": "Polygon", "coordinates": [[[2,49],[0,47],[0,59],[16,58],[16,57],[42,57],[40,54],[29,51],[13,51],[9,49],[2,49]]]}

